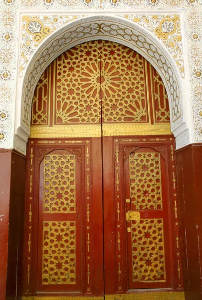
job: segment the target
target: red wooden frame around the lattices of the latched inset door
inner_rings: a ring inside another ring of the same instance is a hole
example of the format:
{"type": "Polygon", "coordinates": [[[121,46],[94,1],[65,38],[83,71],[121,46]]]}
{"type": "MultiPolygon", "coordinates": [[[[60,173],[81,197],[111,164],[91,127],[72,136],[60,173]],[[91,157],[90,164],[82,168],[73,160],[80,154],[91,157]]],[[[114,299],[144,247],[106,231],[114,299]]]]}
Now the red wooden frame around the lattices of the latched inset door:
{"type": "MultiPolygon", "coordinates": [[[[155,145],[155,143],[153,144],[155,145]]],[[[151,145],[152,146],[152,145],[151,145]]],[[[159,153],[158,151],[152,149],[151,147],[139,147],[138,149],[132,151],[134,153],[138,152],[149,152],[149,153],[159,153]]],[[[165,165],[165,159],[161,155],[160,152],[160,161],[161,161],[161,185],[162,185],[162,202],[163,202],[163,209],[161,207],[158,207],[158,209],[140,209],[137,210],[135,205],[133,203],[126,203],[126,212],[127,211],[139,211],[141,219],[153,219],[153,218],[161,218],[164,221],[164,247],[165,247],[165,272],[166,272],[166,280],[162,276],[160,279],[164,280],[165,282],[160,282],[160,280],[156,280],[156,282],[141,282],[140,280],[133,281],[132,278],[132,244],[131,244],[131,232],[127,232],[127,266],[128,266],[128,289],[134,289],[134,288],[162,288],[162,287],[171,287],[171,267],[173,264],[172,261],[172,251],[170,249],[170,239],[169,238],[169,226],[168,226],[168,191],[167,191],[167,183],[169,183],[166,178],[166,165],[165,165]]],[[[128,172],[129,170],[129,157],[125,162],[125,188],[126,188],[126,194],[125,198],[130,199],[130,174],[128,172]]],[[[155,170],[155,166],[154,166],[155,170]]],[[[130,222],[126,222],[127,227],[131,227],[130,222]]],[[[139,261],[141,263],[141,260],[139,261]]]]}

